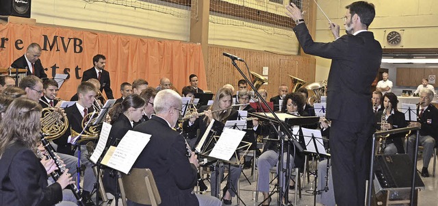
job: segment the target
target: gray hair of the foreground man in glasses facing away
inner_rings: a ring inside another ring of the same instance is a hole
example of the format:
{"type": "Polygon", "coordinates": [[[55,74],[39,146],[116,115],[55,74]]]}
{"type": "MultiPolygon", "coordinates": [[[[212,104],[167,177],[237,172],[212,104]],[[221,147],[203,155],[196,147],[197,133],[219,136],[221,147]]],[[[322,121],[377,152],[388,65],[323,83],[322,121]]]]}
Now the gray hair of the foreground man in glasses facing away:
{"type": "Polygon", "coordinates": [[[181,107],[181,96],[174,90],[160,90],[153,100],[153,110],[155,114],[162,114],[170,107],[181,107]]]}

